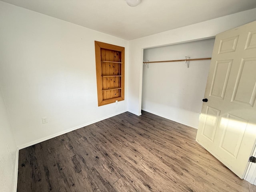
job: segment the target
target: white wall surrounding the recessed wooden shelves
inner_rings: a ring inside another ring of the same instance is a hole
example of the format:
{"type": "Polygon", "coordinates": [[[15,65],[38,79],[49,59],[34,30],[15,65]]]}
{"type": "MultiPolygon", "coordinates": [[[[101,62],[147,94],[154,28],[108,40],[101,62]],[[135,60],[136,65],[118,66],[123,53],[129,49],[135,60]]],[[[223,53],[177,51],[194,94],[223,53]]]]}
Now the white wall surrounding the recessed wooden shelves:
{"type": "Polygon", "coordinates": [[[0,1],[0,86],[19,148],[127,111],[98,107],[94,40],[128,41],[0,1]],[[42,124],[42,117],[48,118],[42,124]]]}

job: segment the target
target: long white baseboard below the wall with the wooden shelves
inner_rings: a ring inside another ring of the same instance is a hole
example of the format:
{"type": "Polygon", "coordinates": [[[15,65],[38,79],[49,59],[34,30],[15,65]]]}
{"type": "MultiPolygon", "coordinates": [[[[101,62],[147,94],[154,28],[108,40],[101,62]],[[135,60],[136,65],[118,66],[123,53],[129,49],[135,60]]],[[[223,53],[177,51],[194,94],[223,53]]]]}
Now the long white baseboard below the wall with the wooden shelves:
{"type": "Polygon", "coordinates": [[[85,123],[85,124],[82,124],[82,125],[73,127],[73,128],[71,128],[71,129],[68,129],[68,130],[65,130],[65,131],[62,131],[62,132],[58,132],[58,133],[56,133],[56,134],[52,134],[52,135],[50,135],[50,136],[47,136],[47,137],[44,137],[44,138],[41,138],[41,139],[38,139],[38,140],[35,140],[35,141],[32,141],[32,142],[29,142],[29,143],[26,143],[26,144],[23,144],[23,145],[20,145],[20,146],[18,146],[18,149],[21,150],[21,149],[23,149],[23,148],[32,146],[32,145],[34,145],[34,144],[38,144],[38,143],[43,142],[43,141],[46,141],[46,140],[48,140],[48,139],[52,139],[52,138],[54,138],[54,137],[63,135],[63,134],[65,134],[65,133],[74,131],[74,130],[76,130],[76,129],[80,129],[80,128],[82,128],[82,127],[88,126],[88,125],[90,125],[90,124],[94,124],[94,123],[96,123],[96,122],[99,122],[99,121],[102,121],[102,120],[104,120],[104,119],[107,119],[107,118],[110,118],[110,117],[119,115],[119,114],[124,113],[124,112],[127,112],[127,110],[120,111],[120,112],[118,112],[118,113],[115,113],[115,114],[112,114],[112,115],[109,115],[109,116],[106,116],[106,117],[103,117],[103,118],[94,120],[94,121],[92,121],[92,122],[88,122],[88,123],[85,123]]]}

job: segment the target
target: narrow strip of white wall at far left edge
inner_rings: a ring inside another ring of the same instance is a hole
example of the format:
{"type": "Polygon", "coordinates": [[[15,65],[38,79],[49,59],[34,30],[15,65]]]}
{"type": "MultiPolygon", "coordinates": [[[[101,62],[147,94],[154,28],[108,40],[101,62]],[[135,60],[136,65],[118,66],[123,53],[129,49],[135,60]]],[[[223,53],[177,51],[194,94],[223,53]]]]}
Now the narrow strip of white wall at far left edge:
{"type": "Polygon", "coordinates": [[[0,88],[0,184],[1,191],[13,192],[17,182],[17,146],[0,88]]]}

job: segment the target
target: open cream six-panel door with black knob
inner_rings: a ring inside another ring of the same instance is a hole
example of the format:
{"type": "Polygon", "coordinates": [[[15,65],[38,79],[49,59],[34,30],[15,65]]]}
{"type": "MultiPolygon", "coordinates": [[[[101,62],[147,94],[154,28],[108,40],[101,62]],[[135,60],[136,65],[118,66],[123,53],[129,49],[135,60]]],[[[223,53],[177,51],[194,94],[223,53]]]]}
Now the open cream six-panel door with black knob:
{"type": "Polygon", "coordinates": [[[256,141],[256,21],[216,36],[196,141],[244,178],[256,141]]]}

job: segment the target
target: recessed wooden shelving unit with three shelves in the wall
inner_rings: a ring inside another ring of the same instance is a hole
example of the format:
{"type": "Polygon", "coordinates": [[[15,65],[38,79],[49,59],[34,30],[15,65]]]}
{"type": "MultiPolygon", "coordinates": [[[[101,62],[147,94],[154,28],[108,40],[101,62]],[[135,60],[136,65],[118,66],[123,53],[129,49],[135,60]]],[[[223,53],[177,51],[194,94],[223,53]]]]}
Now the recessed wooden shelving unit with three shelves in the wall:
{"type": "Polygon", "coordinates": [[[124,100],[124,47],[95,41],[98,106],[124,100]]]}

